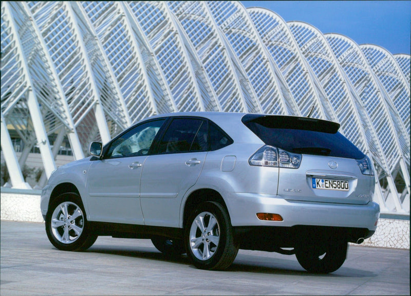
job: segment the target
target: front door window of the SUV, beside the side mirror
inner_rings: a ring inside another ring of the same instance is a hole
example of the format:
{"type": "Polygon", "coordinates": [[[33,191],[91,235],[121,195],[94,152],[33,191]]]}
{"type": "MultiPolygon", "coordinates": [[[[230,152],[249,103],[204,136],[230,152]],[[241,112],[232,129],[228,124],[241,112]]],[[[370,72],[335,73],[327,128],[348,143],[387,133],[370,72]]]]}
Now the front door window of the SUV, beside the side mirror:
{"type": "Polygon", "coordinates": [[[142,123],[122,134],[110,144],[106,158],[146,155],[163,122],[164,119],[142,123]]]}

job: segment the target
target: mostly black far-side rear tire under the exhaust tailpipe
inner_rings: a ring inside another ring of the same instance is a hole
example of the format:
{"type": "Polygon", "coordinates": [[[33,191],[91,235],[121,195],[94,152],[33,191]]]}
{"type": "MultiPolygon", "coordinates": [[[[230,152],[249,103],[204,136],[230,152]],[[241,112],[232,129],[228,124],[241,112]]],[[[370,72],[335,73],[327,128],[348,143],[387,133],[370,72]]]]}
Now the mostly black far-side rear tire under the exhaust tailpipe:
{"type": "Polygon", "coordinates": [[[295,249],[298,263],[312,273],[333,272],[343,265],[347,257],[348,243],[342,239],[328,242],[305,242],[295,249]]]}

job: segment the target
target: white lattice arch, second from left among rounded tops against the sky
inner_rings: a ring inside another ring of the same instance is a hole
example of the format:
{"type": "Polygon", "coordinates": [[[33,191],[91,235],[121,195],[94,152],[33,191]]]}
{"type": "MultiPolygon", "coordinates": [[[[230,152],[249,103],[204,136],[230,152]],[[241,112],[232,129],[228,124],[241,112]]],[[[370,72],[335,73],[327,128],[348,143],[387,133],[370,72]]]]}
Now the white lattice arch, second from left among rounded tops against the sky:
{"type": "MultiPolygon", "coordinates": [[[[376,131],[363,107],[361,99],[351,86],[349,79],[335,59],[324,35],[313,26],[303,22],[288,22],[302,53],[307,58],[312,70],[326,90],[337,116],[343,127],[343,134],[360,150],[368,154],[379,178],[390,178],[390,168],[379,144],[376,131]]],[[[389,184],[394,184],[392,180],[389,184]]],[[[387,210],[380,183],[377,182],[376,196],[382,210],[387,210]]],[[[395,186],[388,188],[397,194],[395,186]]]]}

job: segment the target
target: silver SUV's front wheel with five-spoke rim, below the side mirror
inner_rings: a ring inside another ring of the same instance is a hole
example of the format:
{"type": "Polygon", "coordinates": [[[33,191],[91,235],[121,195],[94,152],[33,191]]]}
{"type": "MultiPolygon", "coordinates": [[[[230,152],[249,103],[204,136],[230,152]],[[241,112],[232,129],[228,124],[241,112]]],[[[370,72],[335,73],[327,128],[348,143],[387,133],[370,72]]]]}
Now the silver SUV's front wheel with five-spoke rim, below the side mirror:
{"type": "Polygon", "coordinates": [[[51,202],[46,233],[52,245],[64,251],[86,250],[97,240],[90,233],[81,198],[74,193],[64,193],[51,202]]]}

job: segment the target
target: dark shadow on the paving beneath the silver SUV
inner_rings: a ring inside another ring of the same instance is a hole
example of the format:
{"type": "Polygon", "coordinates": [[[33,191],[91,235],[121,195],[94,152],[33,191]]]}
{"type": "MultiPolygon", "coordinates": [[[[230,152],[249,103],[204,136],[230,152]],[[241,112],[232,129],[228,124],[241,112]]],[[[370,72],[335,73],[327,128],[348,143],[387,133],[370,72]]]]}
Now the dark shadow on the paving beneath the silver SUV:
{"type": "MultiPolygon", "coordinates": [[[[104,253],[109,255],[125,256],[132,258],[143,258],[156,261],[172,262],[175,264],[190,265],[189,258],[183,254],[180,256],[167,256],[157,251],[155,247],[138,247],[132,250],[117,246],[93,246],[86,252],[104,253]]],[[[287,258],[287,256],[286,256],[287,258]]],[[[293,276],[315,276],[315,277],[343,277],[343,278],[373,278],[377,274],[368,270],[355,269],[350,267],[340,267],[337,271],[327,274],[310,273],[304,270],[296,261],[295,257],[288,259],[266,258],[262,256],[252,256],[239,254],[233,264],[226,269],[227,272],[253,272],[265,274],[293,275],[293,276]]]]}

